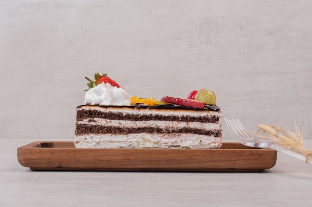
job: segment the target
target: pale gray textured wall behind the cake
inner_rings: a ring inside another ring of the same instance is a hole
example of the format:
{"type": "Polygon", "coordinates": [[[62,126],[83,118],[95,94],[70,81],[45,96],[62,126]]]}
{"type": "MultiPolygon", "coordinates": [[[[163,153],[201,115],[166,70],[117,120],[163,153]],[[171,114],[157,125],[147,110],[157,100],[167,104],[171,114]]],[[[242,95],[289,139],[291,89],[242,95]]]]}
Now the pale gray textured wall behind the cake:
{"type": "Polygon", "coordinates": [[[250,131],[296,121],[312,138],[311,11],[310,0],[0,0],[0,138],[74,139],[96,71],[142,97],[210,88],[250,131]]]}

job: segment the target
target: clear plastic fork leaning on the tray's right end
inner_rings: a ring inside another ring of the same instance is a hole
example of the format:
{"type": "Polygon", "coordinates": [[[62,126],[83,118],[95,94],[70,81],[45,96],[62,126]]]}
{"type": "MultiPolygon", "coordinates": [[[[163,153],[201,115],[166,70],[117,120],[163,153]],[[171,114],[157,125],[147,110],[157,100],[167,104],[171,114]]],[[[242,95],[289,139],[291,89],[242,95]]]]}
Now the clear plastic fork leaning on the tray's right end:
{"type": "Polygon", "coordinates": [[[307,159],[306,156],[301,153],[285,148],[278,143],[273,143],[268,140],[263,141],[256,138],[255,136],[247,134],[246,128],[238,119],[224,118],[224,120],[232,135],[237,138],[242,144],[251,147],[274,149],[276,151],[283,152],[297,159],[303,160],[309,164],[312,164],[312,161],[310,159],[307,159]]]}

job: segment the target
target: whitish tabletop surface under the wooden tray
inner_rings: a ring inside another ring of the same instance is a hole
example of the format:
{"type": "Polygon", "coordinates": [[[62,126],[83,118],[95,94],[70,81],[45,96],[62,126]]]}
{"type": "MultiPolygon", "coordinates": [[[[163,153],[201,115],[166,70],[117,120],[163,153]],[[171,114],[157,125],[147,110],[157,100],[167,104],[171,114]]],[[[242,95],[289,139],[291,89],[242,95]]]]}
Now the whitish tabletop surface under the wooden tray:
{"type": "Polygon", "coordinates": [[[1,207],[312,206],[312,165],[282,153],[261,173],[31,171],[16,148],[42,140],[0,140],[1,207]]]}

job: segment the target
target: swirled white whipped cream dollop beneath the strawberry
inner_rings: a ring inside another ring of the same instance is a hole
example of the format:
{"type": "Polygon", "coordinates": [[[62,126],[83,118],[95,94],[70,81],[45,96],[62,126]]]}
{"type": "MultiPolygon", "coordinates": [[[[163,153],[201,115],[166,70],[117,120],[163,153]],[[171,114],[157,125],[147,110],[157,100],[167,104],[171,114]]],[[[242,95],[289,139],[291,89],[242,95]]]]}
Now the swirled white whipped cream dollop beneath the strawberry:
{"type": "Polygon", "coordinates": [[[122,88],[109,83],[101,83],[90,88],[85,95],[85,104],[91,105],[130,105],[131,96],[122,88]]]}

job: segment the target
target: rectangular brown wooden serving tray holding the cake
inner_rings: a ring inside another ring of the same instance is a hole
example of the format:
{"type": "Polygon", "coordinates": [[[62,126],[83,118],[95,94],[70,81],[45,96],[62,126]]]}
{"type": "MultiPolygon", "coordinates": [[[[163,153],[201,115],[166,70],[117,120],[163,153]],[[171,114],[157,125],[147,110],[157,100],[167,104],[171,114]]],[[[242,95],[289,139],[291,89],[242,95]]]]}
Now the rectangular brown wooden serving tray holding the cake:
{"type": "Polygon", "coordinates": [[[75,148],[71,141],[36,141],[17,148],[31,170],[261,172],[277,152],[223,142],[220,149],[75,148]]]}

